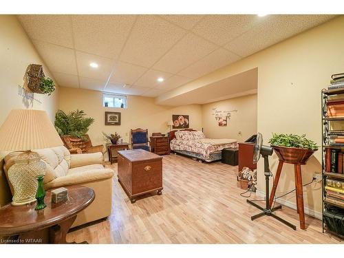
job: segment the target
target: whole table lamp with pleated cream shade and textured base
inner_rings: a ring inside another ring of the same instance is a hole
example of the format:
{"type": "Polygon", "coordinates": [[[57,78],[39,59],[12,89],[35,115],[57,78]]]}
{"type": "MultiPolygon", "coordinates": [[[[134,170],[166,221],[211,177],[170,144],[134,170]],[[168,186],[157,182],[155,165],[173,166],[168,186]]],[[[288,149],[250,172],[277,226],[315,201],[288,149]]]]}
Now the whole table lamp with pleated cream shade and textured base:
{"type": "Polygon", "coordinates": [[[8,170],[13,205],[34,202],[39,175],[45,175],[45,163],[32,149],[62,146],[54,125],[43,110],[14,109],[0,127],[0,151],[23,151],[8,170]]]}

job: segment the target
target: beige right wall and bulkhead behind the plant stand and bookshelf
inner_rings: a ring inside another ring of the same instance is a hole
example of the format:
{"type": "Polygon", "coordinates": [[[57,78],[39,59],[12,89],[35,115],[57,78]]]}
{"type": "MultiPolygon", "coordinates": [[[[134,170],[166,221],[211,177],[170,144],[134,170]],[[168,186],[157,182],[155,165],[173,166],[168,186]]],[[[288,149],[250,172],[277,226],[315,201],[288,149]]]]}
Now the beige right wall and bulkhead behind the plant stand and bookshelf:
{"type": "MultiPolygon", "coordinates": [[[[268,144],[272,132],[284,132],[306,133],[321,145],[321,89],[327,87],[331,74],[344,71],[344,34],[340,33],[343,28],[341,16],[199,78],[170,95],[258,67],[257,131],[263,133],[264,143],[268,144]]],[[[273,173],[277,163],[273,155],[270,159],[273,173]]],[[[263,169],[260,161],[260,191],[264,191],[263,169]]],[[[302,166],[303,183],[310,182],[315,171],[321,172],[321,151],[302,166]]],[[[292,165],[286,164],[277,191],[281,195],[289,189],[294,189],[294,171],[292,165]]],[[[320,183],[305,187],[304,200],[308,213],[321,216],[320,183]]],[[[295,207],[294,193],[283,197],[281,202],[295,207]]]]}

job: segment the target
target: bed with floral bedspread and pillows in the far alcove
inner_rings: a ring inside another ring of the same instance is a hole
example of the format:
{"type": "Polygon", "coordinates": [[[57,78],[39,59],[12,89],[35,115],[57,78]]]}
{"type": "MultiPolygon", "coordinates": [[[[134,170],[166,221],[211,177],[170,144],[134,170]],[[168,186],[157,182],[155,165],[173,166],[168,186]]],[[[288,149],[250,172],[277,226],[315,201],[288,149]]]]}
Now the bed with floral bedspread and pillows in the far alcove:
{"type": "Polygon", "coordinates": [[[225,148],[237,148],[234,139],[205,138],[202,131],[177,131],[170,142],[171,151],[189,155],[206,162],[221,160],[221,151],[225,148]]]}

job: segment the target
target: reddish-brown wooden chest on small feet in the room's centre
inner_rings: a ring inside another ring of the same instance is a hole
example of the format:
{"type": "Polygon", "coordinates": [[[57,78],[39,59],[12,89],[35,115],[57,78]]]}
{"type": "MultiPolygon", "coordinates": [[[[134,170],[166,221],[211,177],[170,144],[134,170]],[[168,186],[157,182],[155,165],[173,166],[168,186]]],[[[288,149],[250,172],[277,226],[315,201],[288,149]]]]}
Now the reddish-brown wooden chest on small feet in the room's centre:
{"type": "Polygon", "coordinates": [[[162,157],[143,149],[118,151],[118,182],[131,203],[138,195],[162,191],[162,157]]]}

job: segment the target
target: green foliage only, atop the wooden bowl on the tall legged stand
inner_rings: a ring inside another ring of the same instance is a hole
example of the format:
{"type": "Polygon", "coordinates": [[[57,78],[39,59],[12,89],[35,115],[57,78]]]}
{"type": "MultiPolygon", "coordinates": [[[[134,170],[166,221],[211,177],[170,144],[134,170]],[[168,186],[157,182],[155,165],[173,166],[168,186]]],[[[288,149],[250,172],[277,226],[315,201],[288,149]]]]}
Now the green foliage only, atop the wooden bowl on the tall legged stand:
{"type": "Polygon", "coordinates": [[[298,136],[292,133],[272,133],[272,138],[269,140],[269,143],[275,146],[311,149],[313,151],[318,149],[315,142],[305,138],[305,134],[298,136]]]}

